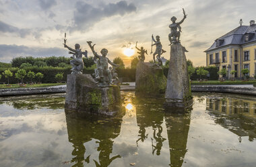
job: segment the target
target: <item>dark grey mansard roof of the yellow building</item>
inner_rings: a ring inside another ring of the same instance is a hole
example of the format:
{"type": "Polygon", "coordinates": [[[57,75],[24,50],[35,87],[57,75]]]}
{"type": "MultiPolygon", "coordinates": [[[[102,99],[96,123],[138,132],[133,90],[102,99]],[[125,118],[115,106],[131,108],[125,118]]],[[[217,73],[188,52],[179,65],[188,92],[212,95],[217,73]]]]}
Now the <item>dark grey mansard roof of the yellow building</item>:
{"type": "Polygon", "coordinates": [[[208,48],[205,52],[211,51],[215,48],[220,48],[222,46],[226,46],[228,44],[245,44],[248,42],[256,41],[256,24],[253,24],[251,26],[238,26],[234,30],[228,32],[227,34],[224,34],[220,38],[214,41],[212,46],[208,48]],[[248,41],[245,42],[245,34],[250,33],[251,36],[248,41]],[[222,40],[222,44],[217,46],[217,41],[222,40]]]}

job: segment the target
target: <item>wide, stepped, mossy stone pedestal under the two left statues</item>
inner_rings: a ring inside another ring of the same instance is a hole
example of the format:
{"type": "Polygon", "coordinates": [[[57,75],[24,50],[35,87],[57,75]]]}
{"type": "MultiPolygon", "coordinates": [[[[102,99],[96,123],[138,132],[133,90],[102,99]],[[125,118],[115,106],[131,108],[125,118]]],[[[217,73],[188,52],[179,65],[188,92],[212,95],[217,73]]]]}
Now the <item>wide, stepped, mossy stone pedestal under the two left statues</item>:
{"type": "Polygon", "coordinates": [[[90,74],[67,75],[66,112],[115,116],[120,108],[119,86],[98,87],[90,74]]]}

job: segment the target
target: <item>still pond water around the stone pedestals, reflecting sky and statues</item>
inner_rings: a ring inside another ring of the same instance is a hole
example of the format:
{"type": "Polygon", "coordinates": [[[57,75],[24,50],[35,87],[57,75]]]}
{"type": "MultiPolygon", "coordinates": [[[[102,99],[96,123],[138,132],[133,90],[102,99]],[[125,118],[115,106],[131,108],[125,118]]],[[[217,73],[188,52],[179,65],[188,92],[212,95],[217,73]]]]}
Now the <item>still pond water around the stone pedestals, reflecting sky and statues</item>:
{"type": "Polygon", "coordinates": [[[184,114],[121,92],[116,119],[66,115],[65,94],[0,98],[0,166],[256,166],[256,98],[193,94],[184,114]]]}

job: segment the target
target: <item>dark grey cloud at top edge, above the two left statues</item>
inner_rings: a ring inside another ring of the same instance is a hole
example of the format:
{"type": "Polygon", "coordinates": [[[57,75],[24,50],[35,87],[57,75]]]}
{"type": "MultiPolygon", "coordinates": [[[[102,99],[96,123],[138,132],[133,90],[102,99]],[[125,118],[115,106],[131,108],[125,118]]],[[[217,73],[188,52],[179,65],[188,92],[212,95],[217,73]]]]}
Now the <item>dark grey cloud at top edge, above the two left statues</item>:
{"type": "Polygon", "coordinates": [[[125,15],[126,13],[136,11],[136,9],[133,3],[127,4],[126,1],[102,4],[100,7],[94,7],[86,2],[77,1],[73,17],[74,27],[70,29],[86,30],[103,18],[113,15],[125,15]]]}

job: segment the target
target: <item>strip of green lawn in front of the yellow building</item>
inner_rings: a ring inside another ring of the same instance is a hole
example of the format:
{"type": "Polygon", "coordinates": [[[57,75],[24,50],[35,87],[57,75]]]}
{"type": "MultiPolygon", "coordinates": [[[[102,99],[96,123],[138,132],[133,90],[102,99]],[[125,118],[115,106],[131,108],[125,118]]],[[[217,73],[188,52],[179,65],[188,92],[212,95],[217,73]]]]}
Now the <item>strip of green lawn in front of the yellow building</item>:
{"type": "Polygon", "coordinates": [[[241,80],[226,80],[226,81],[191,81],[191,86],[214,86],[214,85],[248,85],[248,84],[256,84],[256,80],[249,80],[249,81],[241,81],[241,80]]]}

